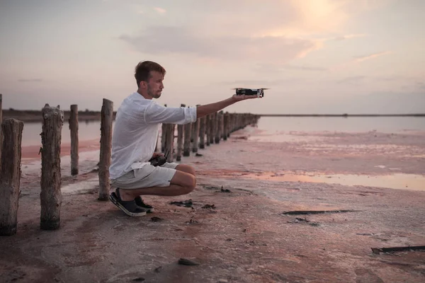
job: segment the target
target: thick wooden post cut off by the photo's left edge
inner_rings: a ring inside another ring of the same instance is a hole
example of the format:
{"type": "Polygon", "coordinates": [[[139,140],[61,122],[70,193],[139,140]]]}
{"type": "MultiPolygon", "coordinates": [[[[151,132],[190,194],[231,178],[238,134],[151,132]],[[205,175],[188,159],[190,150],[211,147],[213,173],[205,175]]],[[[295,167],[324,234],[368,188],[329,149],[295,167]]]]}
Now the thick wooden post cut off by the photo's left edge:
{"type": "Polygon", "coordinates": [[[21,183],[21,142],[23,122],[6,119],[1,124],[4,132],[3,156],[0,172],[0,236],[16,234],[18,199],[21,183]]]}

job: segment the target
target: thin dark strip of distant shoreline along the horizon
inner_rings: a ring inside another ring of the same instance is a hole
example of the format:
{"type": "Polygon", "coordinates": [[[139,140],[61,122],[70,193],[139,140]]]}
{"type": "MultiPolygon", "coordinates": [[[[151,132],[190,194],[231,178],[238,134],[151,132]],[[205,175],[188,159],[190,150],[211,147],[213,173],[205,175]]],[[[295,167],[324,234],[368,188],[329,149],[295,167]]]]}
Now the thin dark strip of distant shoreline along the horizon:
{"type": "MultiPolygon", "coordinates": [[[[64,110],[64,122],[69,120],[69,110],[64,110]]],[[[113,112],[115,119],[116,112],[113,112]]],[[[425,113],[413,114],[256,114],[260,117],[425,117],[425,113]]],[[[3,110],[3,120],[14,118],[23,122],[42,122],[40,110],[3,110]]],[[[79,111],[79,121],[100,121],[101,111],[79,111]]]]}

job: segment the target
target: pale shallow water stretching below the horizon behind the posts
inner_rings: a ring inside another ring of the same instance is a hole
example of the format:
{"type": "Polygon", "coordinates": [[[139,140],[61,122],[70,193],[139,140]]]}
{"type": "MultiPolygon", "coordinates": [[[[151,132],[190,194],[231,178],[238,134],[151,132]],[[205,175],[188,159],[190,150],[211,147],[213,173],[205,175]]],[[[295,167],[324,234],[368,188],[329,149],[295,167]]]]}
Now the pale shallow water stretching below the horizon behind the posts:
{"type": "MultiPolygon", "coordinates": [[[[291,141],[317,139],[293,137],[290,132],[403,132],[425,131],[425,117],[261,117],[257,129],[265,131],[261,141],[291,141]]],[[[23,127],[22,146],[41,144],[41,122],[26,122],[23,127]]],[[[80,121],[79,140],[100,139],[100,121],[80,121]]],[[[70,143],[69,124],[62,126],[62,143],[70,143]]]]}

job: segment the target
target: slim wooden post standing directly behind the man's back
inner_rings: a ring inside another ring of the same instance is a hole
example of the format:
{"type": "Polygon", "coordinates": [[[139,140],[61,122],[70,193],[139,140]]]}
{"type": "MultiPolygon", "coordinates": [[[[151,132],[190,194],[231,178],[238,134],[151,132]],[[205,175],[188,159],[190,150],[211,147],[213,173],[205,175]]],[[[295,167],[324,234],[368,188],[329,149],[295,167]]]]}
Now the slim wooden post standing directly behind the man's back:
{"type": "Polygon", "coordinates": [[[112,151],[112,121],[113,102],[103,98],[101,110],[101,156],[99,161],[99,192],[98,200],[108,200],[109,166],[111,166],[112,151]]]}

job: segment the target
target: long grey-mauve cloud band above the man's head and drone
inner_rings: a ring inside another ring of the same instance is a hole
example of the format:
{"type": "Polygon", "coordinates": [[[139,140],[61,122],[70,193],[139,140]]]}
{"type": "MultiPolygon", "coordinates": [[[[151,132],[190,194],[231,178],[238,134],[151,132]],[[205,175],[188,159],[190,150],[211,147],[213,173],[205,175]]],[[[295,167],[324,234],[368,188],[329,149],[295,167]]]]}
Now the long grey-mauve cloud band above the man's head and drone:
{"type": "Polygon", "coordinates": [[[121,35],[135,50],[148,54],[191,54],[196,57],[286,63],[321,47],[317,40],[290,37],[206,36],[185,27],[152,26],[140,35],[121,35]]]}

